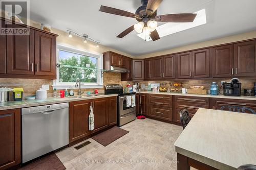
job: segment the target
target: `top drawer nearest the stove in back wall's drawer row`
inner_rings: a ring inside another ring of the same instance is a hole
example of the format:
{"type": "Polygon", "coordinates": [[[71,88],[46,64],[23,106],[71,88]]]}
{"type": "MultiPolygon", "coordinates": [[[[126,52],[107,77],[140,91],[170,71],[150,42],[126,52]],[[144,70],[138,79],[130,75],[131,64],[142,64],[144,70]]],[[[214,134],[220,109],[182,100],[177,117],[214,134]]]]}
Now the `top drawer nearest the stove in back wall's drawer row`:
{"type": "Polygon", "coordinates": [[[150,104],[172,107],[172,95],[150,95],[150,104]]]}

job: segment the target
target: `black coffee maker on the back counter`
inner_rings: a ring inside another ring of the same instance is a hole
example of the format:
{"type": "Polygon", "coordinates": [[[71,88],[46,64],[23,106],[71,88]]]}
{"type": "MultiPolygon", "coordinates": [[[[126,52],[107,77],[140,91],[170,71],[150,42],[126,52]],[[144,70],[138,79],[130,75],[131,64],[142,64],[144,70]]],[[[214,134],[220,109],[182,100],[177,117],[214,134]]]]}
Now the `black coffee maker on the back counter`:
{"type": "Polygon", "coordinates": [[[230,83],[223,83],[223,94],[224,95],[241,95],[241,83],[238,78],[231,79],[230,83]]]}

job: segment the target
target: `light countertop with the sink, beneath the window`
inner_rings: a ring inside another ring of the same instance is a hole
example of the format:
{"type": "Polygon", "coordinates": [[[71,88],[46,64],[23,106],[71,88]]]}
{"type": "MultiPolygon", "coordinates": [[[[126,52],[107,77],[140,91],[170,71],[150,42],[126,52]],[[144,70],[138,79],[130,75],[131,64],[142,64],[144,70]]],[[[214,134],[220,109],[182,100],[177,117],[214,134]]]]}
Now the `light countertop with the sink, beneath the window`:
{"type": "Polygon", "coordinates": [[[82,98],[77,98],[77,96],[69,96],[66,98],[48,98],[46,100],[23,100],[23,101],[4,102],[4,103],[0,103],[0,110],[51,105],[51,104],[91,100],[91,99],[98,99],[98,98],[109,98],[112,96],[117,96],[117,94],[99,94],[98,96],[86,96],[86,97],[83,96],[82,98]]]}

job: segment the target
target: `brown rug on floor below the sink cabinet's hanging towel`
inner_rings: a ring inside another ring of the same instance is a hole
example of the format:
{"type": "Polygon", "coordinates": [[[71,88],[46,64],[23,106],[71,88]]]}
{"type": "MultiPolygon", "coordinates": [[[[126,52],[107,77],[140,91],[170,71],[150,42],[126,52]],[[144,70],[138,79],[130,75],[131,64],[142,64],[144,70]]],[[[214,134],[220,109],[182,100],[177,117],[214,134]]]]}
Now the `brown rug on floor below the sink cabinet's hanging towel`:
{"type": "Polygon", "coordinates": [[[98,143],[106,147],[107,145],[109,145],[110,143],[119,139],[120,137],[127,133],[129,133],[129,131],[123,130],[115,126],[109,130],[106,130],[102,133],[93,136],[92,139],[96,140],[98,143]]]}

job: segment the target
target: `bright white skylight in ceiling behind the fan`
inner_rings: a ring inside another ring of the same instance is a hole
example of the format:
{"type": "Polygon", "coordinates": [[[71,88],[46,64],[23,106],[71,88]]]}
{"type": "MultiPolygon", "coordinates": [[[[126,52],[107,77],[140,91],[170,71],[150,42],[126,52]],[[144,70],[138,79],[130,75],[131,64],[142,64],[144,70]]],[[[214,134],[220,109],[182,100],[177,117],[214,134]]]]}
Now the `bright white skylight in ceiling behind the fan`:
{"type": "MultiPolygon", "coordinates": [[[[202,9],[200,11],[195,12],[195,14],[197,14],[194,22],[168,22],[165,23],[159,27],[157,27],[157,32],[159,34],[160,37],[164,37],[166,35],[170,35],[170,34],[175,34],[184,30],[188,30],[190,28],[194,28],[197,26],[201,26],[204,25],[206,22],[206,12],[205,9],[202,9]]],[[[147,34],[145,35],[145,33],[141,33],[138,34],[138,36],[146,41],[151,41],[152,39],[150,38],[150,36],[147,34]]]]}

